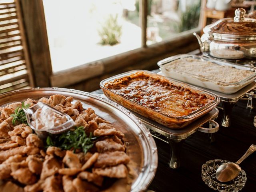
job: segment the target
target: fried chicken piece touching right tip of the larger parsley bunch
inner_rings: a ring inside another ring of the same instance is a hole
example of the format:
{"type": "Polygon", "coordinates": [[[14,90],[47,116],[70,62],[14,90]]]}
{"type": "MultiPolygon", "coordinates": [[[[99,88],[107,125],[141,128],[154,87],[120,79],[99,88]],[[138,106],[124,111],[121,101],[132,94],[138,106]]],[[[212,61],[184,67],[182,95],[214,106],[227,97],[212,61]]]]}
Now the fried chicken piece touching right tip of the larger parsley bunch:
{"type": "Polygon", "coordinates": [[[125,148],[123,145],[116,143],[113,141],[113,139],[108,138],[102,141],[98,141],[95,144],[97,151],[99,153],[104,152],[112,152],[112,151],[124,151],[125,148]]]}

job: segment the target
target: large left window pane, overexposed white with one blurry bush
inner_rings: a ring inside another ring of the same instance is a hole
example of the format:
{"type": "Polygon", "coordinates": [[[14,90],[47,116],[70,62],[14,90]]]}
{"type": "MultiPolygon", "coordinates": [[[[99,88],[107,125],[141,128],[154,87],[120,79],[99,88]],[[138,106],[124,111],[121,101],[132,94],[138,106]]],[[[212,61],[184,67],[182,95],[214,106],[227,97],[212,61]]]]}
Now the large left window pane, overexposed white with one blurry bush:
{"type": "Polygon", "coordinates": [[[43,0],[53,72],[140,48],[134,0],[43,0]]]}

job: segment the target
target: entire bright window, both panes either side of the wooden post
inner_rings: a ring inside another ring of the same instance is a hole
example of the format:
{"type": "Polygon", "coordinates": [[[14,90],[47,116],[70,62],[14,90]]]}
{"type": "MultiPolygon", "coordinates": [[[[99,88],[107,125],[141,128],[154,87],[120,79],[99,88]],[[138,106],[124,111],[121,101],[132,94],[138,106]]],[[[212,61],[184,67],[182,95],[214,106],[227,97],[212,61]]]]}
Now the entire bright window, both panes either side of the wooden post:
{"type": "Polygon", "coordinates": [[[148,0],[144,30],[141,1],[145,2],[43,0],[53,73],[155,44],[198,26],[200,0],[148,0]]]}

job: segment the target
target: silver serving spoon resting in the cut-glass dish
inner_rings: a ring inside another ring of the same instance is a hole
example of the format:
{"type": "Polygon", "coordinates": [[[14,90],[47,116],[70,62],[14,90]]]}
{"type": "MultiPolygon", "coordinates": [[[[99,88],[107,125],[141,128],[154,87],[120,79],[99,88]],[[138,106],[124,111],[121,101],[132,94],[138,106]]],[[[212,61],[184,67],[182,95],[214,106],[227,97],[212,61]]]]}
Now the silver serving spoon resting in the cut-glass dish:
{"type": "Polygon", "coordinates": [[[245,152],[245,154],[236,162],[228,162],[220,165],[216,170],[216,178],[220,182],[228,182],[236,178],[241,171],[240,164],[245,158],[256,151],[256,145],[251,145],[250,148],[245,152]]]}

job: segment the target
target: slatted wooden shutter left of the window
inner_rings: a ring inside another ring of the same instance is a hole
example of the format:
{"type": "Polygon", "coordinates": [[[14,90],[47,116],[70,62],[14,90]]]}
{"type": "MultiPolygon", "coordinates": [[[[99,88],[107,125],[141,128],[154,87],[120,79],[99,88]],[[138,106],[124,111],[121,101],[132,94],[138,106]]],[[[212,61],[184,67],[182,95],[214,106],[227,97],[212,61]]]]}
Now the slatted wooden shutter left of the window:
{"type": "Polygon", "coordinates": [[[18,3],[0,0],[0,94],[34,86],[18,3]]]}

